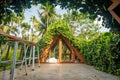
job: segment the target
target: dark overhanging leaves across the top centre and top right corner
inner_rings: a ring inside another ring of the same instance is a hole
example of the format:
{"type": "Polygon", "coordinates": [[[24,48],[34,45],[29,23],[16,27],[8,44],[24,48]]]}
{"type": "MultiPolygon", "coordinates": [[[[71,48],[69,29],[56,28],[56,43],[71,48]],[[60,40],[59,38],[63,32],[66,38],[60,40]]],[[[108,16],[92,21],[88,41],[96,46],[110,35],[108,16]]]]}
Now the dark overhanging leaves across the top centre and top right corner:
{"type": "MultiPolygon", "coordinates": [[[[120,31],[120,24],[111,16],[108,7],[112,0],[41,0],[41,3],[49,1],[52,5],[60,5],[62,8],[77,9],[82,13],[89,13],[91,19],[98,15],[103,16],[103,25],[114,31],[120,31]]],[[[119,13],[118,8],[116,13],[119,13]]],[[[118,14],[119,15],[119,14],[118,14]]]]}

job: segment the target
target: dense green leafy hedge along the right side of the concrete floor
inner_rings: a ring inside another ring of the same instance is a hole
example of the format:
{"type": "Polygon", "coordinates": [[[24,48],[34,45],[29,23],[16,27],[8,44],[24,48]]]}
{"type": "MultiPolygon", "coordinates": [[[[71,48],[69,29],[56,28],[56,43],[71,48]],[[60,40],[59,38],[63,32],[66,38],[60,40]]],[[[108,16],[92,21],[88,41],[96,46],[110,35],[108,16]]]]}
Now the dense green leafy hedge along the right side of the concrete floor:
{"type": "Polygon", "coordinates": [[[96,69],[120,76],[120,35],[101,34],[80,47],[87,64],[96,69]]]}

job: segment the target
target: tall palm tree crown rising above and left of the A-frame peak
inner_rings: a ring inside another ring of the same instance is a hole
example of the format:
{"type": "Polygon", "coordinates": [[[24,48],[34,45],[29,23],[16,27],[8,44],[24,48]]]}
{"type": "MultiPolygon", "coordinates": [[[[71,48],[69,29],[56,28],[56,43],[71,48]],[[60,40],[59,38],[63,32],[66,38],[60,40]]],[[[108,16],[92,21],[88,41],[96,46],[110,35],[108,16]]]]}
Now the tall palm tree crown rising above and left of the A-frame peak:
{"type": "Polygon", "coordinates": [[[39,16],[41,18],[41,29],[43,30],[43,34],[46,32],[47,27],[55,20],[55,17],[57,17],[57,14],[55,12],[55,7],[50,5],[48,2],[43,3],[40,6],[40,9],[43,11],[39,13],[39,16]]]}

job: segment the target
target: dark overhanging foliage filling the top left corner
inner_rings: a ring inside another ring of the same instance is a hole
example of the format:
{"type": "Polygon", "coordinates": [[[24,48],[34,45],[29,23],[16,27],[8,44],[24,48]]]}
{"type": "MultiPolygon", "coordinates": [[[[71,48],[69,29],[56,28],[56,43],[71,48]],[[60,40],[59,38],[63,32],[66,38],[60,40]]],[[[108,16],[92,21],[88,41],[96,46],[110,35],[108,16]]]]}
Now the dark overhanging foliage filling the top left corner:
{"type": "Polygon", "coordinates": [[[25,8],[31,7],[31,0],[0,0],[0,23],[7,24],[13,13],[21,15],[25,8]]]}

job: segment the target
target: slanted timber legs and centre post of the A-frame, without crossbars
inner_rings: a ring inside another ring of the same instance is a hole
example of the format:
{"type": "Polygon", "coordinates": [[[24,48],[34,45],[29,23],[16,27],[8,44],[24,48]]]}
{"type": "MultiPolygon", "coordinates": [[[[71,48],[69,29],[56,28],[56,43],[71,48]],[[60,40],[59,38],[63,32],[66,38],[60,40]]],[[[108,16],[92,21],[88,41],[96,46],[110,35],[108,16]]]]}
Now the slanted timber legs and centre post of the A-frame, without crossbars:
{"type": "Polygon", "coordinates": [[[46,59],[49,55],[49,52],[52,52],[52,47],[54,44],[58,41],[59,45],[59,51],[58,51],[58,62],[62,63],[62,43],[64,42],[67,46],[67,48],[70,50],[70,61],[69,62],[75,62],[75,59],[77,58],[81,63],[85,63],[85,60],[83,56],[80,54],[80,52],[71,45],[70,41],[63,37],[62,35],[56,35],[54,36],[49,44],[43,48],[42,52],[40,53],[40,62],[46,62],[46,59]]]}

